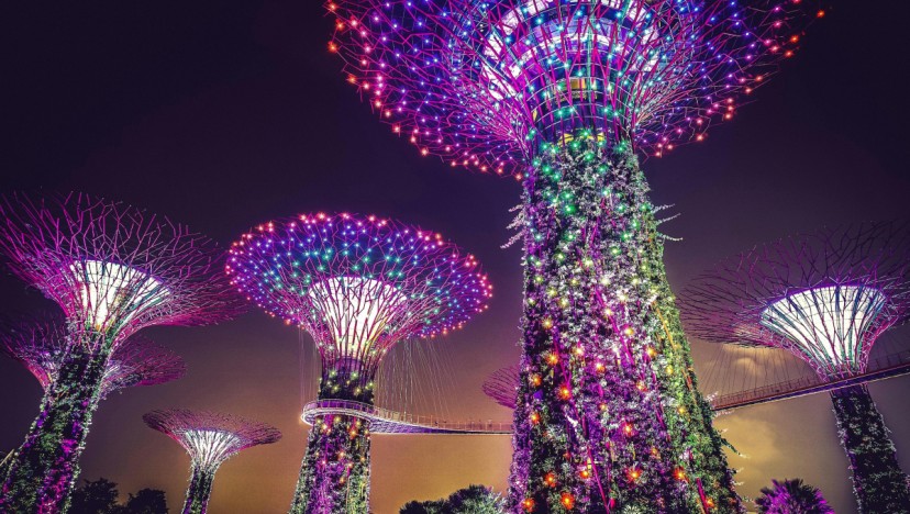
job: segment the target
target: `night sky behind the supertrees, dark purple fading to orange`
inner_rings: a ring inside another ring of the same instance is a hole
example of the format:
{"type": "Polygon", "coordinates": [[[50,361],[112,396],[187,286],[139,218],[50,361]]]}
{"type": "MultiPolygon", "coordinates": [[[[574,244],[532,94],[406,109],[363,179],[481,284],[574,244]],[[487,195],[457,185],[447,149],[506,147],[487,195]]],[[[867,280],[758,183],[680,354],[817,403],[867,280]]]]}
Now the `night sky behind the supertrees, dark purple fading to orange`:
{"type": "MultiPolygon", "coordinates": [[[[682,214],[664,227],[684,237],[667,249],[676,290],[755,243],[908,214],[910,68],[901,49],[910,7],[842,3],[732,123],[703,144],[645,163],[655,201],[682,214]]],[[[2,191],[124,200],[223,244],[259,222],[317,210],[377,213],[442,232],[479,257],[497,288],[487,313],[439,342],[457,370],[450,406],[463,418],[508,420],[479,387],[518,355],[520,250],[500,245],[519,187],[420,157],[393,136],[325,51],[331,25],[319,2],[3,2],[2,191]]],[[[4,312],[44,305],[0,276],[4,312]]],[[[189,373],[106,401],[84,477],[107,477],[123,492],[163,488],[176,507],[188,459],[140,416],[169,406],[221,410],[273,423],[285,439],[229,461],[212,512],[286,510],[304,449],[299,358],[309,338],[258,312],[148,335],[182,355],[189,373]]],[[[709,351],[696,350],[697,358],[709,351]]],[[[905,469],[908,386],[905,378],[873,387],[905,469]]],[[[0,360],[0,449],[19,445],[37,401],[36,382],[0,360]]],[[[837,512],[854,512],[824,395],[743,409],[718,424],[751,456],[731,460],[745,468],[743,493],[798,476],[821,487],[837,512]]],[[[374,507],[397,512],[407,500],[470,482],[501,489],[509,452],[507,437],[375,437],[374,507]]]]}

